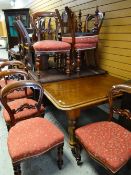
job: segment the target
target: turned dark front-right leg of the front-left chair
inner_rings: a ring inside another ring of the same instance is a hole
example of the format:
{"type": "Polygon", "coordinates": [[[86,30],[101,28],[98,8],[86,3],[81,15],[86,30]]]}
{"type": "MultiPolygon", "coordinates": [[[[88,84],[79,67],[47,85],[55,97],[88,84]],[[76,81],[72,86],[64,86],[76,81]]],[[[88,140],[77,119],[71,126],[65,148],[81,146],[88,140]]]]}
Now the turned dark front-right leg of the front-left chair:
{"type": "Polygon", "coordinates": [[[57,153],[58,155],[57,164],[60,170],[62,169],[62,165],[63,165],[63,146],[64,146],[64,143],[58,146],[58,153],[57,153]]]}

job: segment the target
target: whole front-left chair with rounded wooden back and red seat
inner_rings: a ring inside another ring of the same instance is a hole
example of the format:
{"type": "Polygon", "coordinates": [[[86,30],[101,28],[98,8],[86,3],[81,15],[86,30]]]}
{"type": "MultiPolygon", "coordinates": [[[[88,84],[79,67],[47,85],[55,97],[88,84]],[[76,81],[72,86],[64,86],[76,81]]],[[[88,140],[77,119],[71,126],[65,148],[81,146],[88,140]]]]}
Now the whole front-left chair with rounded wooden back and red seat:
{"type": "Polygon", "coordinates": [[[10,157],[12,159],[15,174],[21,174],[20,162],[22,160],[38,156],[46,153],[52,148],[58,148],[58,167],[61,169],[63,160],[63,133],[50,121],[45,118],[38,117],[26,119],[20,122],[16,122],[15,114],[19,111],[23,111],[27,108],[27,104],[23,101],[23,105],[19,110],[10,108],[7,103],[7,95],[12,90],[20,88],[33,88],[39,91],[38,103],[29,105],[28,108],[32,110],[37,109],[40,111],[41,103],[43,99],[43,88],[42,86],[34,81],[21,81],[11,83],[1,90],[1,101],[5,109],[7,110],[11,128],[8,133],[7,145],[10,157]]]}

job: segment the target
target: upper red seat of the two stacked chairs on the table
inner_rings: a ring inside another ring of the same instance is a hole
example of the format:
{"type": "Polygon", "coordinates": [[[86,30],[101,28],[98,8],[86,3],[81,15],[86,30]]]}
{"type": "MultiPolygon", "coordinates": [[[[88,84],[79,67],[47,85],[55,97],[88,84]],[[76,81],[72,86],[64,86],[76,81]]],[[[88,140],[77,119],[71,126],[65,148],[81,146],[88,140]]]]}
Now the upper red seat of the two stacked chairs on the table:
{"type": "MultiPolygon", "coordinates": [[[[62,37],[62,41],[72,43],[72,37],[62,37]]],[[[98,35],[75,37],[75,43],[98,43],[98,35]]]]}

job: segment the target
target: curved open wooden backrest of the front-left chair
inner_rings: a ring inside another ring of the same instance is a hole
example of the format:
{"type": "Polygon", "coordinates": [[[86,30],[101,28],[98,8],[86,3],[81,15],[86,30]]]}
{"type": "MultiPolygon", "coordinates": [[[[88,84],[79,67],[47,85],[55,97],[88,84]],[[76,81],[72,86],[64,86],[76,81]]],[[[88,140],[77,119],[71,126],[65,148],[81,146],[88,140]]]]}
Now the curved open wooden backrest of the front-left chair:
{"type": "Polygon", "coordinates": [[[40,107],[41,107],[42,99],[43,99],[43,88],[39,83],[37,83],[35,81],[31,81],[31,80],[22,80],[22,81],[18,81],[18,82],[13,82],[13,83],[6,85],[4,88],[2,88],[2,90],[0,91],[0,99],[1,99],[3,106],[5,107],[7,112],[9,113],[9,116],[11,119],[11,125],[14,125],[15,124],[14,115],[17,112],[23,111],[25,108],[37,109],[38,111],[40,111],[40,107]],[[36,102],[35,105],[23,104],[18,109],[11,109],[9,104],[8,104],[7,96],[12,91],[19,90],[21,88],[22,89],[24,89],[24,88],[37,89],[39,91],[38,101],[36,102]]]}

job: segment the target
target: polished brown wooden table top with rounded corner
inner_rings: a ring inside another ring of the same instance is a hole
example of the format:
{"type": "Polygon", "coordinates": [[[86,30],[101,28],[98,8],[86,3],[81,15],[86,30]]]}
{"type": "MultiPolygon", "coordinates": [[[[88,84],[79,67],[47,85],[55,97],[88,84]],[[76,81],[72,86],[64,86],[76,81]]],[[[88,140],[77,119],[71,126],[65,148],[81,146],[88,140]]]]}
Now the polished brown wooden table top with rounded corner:
{"type": "Polygon", "coordinates": [[[105,102],[112,85],[123,82],[106,74],[46,83],[43,88],[47,98],[58,109],[73,110],[105,102]]]}

